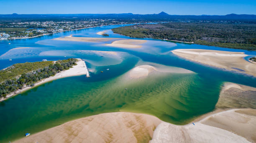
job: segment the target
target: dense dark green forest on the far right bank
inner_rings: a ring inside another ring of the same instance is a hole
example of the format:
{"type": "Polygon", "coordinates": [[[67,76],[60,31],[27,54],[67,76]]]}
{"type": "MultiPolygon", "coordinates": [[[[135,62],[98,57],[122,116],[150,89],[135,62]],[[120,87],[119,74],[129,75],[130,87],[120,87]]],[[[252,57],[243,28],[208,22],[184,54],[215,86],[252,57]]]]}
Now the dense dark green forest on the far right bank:
{"type": "Polygon", "coordinates": [[[114,33],[136,38],[193,42],[218,47],[256,50],[256,24],[169,22],[118,27],[114,33]]]}

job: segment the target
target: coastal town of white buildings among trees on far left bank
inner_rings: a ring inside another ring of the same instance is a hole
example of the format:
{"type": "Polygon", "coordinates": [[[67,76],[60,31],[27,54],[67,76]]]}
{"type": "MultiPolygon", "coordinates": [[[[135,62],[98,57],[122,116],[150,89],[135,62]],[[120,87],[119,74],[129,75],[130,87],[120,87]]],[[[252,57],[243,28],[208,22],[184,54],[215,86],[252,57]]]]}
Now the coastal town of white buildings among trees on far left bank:
{"type": "Polygon", "coordinates": [[[58,32],[79,30],[103,25],[128,24],[113,19],[87,19],[78,21],[31,21],[0,23],[0,40],[24,39],[58,32]]]}

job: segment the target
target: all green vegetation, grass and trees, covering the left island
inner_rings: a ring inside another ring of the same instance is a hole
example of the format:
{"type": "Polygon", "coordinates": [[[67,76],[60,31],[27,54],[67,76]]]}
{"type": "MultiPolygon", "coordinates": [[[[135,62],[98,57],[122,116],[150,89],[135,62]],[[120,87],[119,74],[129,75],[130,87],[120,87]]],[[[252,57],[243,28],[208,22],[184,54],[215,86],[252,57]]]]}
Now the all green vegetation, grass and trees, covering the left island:
{"type": "Polygon", "coordinates": [[[55,62],[33,62],[13,64],[0,70],[0,97],[22,89],[24,86],[33,86],[37,81],[54,76],[56,73],[67,70],[76,65],[77,59],[65,59],[55,62]]]}

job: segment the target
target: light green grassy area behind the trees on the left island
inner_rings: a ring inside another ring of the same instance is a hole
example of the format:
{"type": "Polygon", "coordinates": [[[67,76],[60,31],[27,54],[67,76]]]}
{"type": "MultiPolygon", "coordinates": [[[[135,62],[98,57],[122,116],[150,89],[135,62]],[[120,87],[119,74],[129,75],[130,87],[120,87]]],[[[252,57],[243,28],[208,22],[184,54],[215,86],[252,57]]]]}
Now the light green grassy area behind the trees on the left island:
{"type": "Polygon", "coordinates": [[[20,76],[23,73],[28,73],[37,69],[42,69],[44,67],[49,66],[49,64],[52,63],[52,61],[46,61],[13,64],[5,70],[0,70],[0,83],[7,79],[16,78],[17,76],[20,76]]]}

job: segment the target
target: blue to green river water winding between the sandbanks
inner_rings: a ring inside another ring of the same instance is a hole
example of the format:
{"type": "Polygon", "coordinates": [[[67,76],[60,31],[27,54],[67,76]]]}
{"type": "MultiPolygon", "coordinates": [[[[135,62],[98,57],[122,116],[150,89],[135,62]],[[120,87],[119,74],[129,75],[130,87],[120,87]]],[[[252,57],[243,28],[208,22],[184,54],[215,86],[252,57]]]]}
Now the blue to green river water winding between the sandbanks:
{"type": "Polygon", "coordinates": [[[0,103],[0,142],[14,141],[25,133],[36,133],[67,121],[99,113],[129,111],[147,113],[174,124],[186,124],[193,118],[212,111],[224,81],[256,87],[256,78],[235,72],[203,66],[179,58],[173,49],[217,49],[254,51],[181,44],[152,40],[141,49],[122,49],[104,43],[52,40],[72,34],[77,37],[101,37],[96,33],[121,25],[95,27],[63,32],[33,39],[0,41],[0,69],[15,63],[82,58],[90,70],[90,78],[74,76],[35,87],[0,103]],[[8,43],[11,43],[10,45],[8,43]],[[13,49],[17,47],[32,47],[13,49]],[[13,49],[9,51],[10,49],[13,49]],[[117,55],[88,52],[116,51],[117,55]],[[9,52],[8,52],[9,51],[9,52]],[[66,57],[64,57],[66,56],[66,57]],[[10,62],[8,59],[12,58],[10,62]],[[126,81],[127,72],[138,62],[152,62],[193,71],[189,74],[152,74],[141,80],[126,81]],[[106,71],[105,69],[110,69],[106,71]],[[103,73],[100,71],[104,70],[103,73]],[[124,90],[127,88],[127,90],[124,90]]]}

